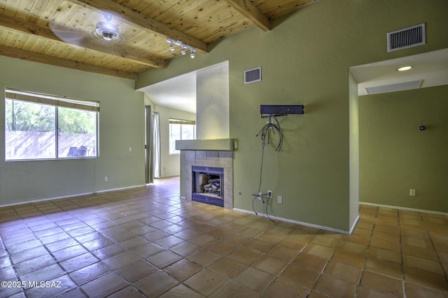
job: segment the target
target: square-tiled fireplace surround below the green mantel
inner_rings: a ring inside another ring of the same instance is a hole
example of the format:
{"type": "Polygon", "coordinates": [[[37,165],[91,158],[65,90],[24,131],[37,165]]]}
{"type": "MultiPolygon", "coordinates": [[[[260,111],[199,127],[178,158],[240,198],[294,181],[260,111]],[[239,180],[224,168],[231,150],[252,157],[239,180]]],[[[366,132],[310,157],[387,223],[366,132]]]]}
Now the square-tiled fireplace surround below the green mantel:
{"type": "MultiPolygon", "coordinates": [[[[179,142],[179,141],[178,141],[179,142]]],[[[233,145],[233,144],[232,144],[233,145]]],[[[176,147],[178,145],[176,144],[176,147]]],[[[224,208],[233,208],[233,148],[225,150],[202,150],[197,146],[181,149],[181,179],[184,181],[182,198],[192,200],[193,165],[223,167],[224,169],[224,208]]],[[[185,147],[184,147],[185,148],[185,147]]]]}

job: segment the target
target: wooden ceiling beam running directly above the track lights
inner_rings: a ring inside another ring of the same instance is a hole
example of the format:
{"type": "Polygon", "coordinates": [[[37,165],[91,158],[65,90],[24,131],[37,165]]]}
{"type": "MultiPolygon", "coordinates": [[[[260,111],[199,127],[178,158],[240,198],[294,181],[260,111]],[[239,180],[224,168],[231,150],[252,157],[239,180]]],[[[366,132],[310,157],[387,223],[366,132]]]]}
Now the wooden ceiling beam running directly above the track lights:
{"type": "Polygon", "coordinates": [[[174,40],[180,40],[182,43],[186,45],[190,45],[191,47],[195,47],[195,49],[199,52],[209,52],[209,45],[204,43],[202,40],[194,38],[193,36],[189,36],[186,33],[183,33],[179,30],[173,29],[166,24],[158,22],[156,20],[151,19],[150,17],[146,17],[134,11],[132,9],[126,8],[125,6],[120,5],[111,0],[72,0],[74,3],[85,3],[87,6],[91,6],[92,8],[97,8],[99,10],[109,10],[113,13],[120,14],[120,17],[123,20],[130,22],[132,24],[137,24],[139,27],[143,27],[157,34],[158,36],[169,37],[174,40]]]}

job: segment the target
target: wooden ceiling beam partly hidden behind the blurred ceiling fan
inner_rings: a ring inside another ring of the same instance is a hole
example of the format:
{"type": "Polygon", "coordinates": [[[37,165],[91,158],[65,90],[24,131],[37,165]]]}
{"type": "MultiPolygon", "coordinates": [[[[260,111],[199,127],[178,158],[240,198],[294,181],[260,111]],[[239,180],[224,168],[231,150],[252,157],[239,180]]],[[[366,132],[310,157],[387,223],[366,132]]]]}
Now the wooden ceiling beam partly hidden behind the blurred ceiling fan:
{"type": "MultiPolygon", "coordinates": [[[[29,22],[27,20],[22,20],[17,17],[10,17],[8,15],[2,15],[0,18],[0,26],[14,29],[17,31],[22,31],[25,33],[31,33],[36,36],[49,38],[52,40],[61,41],[57,36],[55,36],[54,33],[52,33],[51,29],[49,27],[41,26],[33,22],[29,22]]],[[[104,45],[98,45],[97,43],[91,40],[85,40],[80,47],[85,47],[90,50],[95,50],[99,52],[106,52],[104,45]]],[[[106,52],[106,54],[112,54],[109,52],[106,52]]],[[[119,46],[115,46],[113,48],[113,55],[118,56],[120,58],[129,59],[132,62],[137,62],[139,64],[146,64],[148,66],[152,66],[155,68],[166,68],[167,63],[166,61],[162,59],[157,59],[154,57],[145,57],[139,54],[135,54],[132,52],[130,48],[121,49],[119,46]]]]}

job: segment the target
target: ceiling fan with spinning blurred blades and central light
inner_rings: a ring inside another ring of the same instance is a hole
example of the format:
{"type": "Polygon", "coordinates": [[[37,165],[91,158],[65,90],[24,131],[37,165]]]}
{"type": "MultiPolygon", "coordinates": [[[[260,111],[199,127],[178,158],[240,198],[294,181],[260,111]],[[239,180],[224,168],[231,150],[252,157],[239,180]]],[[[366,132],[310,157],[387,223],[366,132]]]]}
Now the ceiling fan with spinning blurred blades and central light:
{"type": "Polygon", "coordinates": [[[120,27],[125,25],[119,15],[73,5],[73,2],[59,7],[48,25],[55,36],[72,45],[94,45],[94,41],[109,47],[125,41],[125,36],[120,32],[120,27]]]}

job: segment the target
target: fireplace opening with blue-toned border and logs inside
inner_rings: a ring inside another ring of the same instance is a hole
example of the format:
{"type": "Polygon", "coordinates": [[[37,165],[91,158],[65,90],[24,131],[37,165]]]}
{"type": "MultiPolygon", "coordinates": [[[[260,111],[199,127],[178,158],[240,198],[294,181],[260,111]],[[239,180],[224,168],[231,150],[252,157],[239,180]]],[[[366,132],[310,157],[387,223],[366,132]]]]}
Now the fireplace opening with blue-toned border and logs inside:
{"type": "Polygon", "coordinates": [[[192,200],[224,207],[223,167],[204,167],[193,165],[192,170],[192,200]]]}

